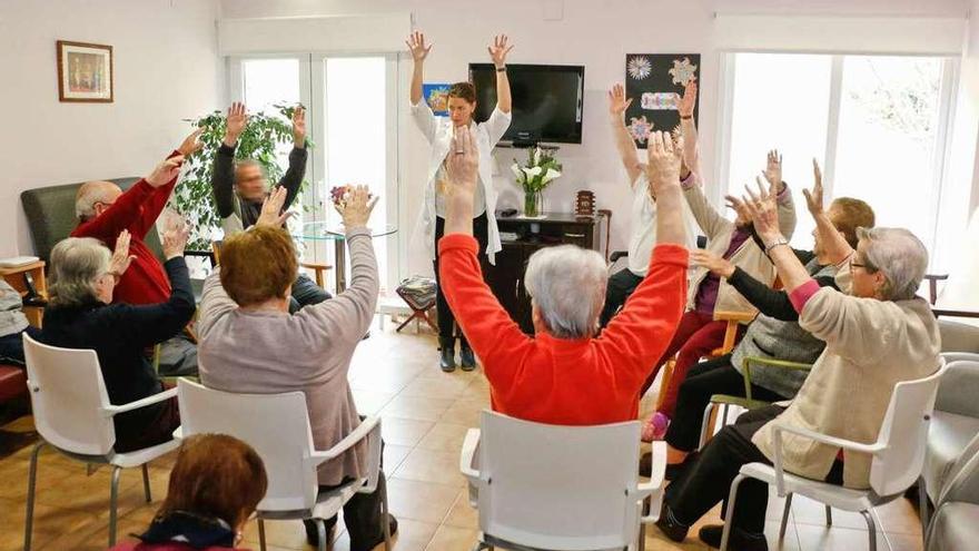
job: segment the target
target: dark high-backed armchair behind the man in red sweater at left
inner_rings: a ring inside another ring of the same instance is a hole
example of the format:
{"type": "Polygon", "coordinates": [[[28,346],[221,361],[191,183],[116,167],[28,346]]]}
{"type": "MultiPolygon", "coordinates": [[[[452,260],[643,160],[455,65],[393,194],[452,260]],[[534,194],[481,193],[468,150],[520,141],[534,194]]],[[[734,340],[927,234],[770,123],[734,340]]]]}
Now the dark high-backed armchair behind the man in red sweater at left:
{"type": "MultiPolygon", "coordinates": [[[[139,181],[139,178],[115,178],[107,181],[126,190],[139,181]]],[[[20,194],[20,203],[23,205],[31,240],[34,244],[34,254],[41,259],[47,262],[55,245],[68,237],[71,230],[78,226],[78,217],[75,215],[75,196],[82,184],[39,187],[20,194]]],[[[145,242],[150,250],[162,258],[160,240],[156,230],[151,229],[145,242]]]]}

